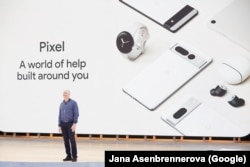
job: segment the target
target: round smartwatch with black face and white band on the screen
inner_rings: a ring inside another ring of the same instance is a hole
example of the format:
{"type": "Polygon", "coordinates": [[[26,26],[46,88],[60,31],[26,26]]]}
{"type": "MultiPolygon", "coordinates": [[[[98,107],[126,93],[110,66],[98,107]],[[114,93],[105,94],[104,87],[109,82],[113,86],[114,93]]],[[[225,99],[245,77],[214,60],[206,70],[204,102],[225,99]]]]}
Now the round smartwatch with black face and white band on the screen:
{"type": "Polygon", "coordinates": [[[149,38],[148,29],[141,23],[135,23],[127,31],[122,31],[116,38],[118,50],[134,60],[145,50],[145,44],[149,38]]]}

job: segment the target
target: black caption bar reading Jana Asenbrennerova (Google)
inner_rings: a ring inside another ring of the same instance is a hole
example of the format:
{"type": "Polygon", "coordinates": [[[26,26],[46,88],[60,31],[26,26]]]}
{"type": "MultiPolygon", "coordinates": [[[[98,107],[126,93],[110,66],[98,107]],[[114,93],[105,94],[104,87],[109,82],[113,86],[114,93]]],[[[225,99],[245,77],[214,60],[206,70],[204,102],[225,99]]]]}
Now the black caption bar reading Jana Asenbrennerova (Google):
{"type": "Polygon", "coordinates": [[[250,151],[105,151],[105,167],[250,166],[250,151]]]}

